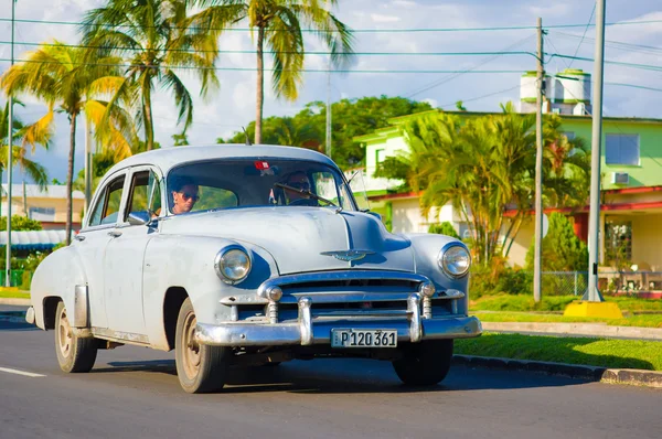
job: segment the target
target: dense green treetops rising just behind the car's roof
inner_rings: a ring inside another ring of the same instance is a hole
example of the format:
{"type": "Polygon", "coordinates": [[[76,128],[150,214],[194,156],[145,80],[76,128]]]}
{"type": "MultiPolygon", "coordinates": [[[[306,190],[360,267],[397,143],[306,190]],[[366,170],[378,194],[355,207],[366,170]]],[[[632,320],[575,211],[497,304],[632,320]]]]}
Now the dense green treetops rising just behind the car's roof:
{"type": "MultiPolygon", "coordinates": [[[[418,103],[403,97],[363,97],[342,99],[331,105],[332,152],[331,157],[341,168],[353,168],[365,160],[365,150],[354,142],[354,137],[372,133],[387,127],[388,119],[427,111],[428,103],[418,103]]],[[[312,101],[293,117],[269,117],[263,125],[263,143],[289,144],[324,151],[327,105],[312,101]]],[[[255,122],[246,127],[249,137],[255,133],[255,122]]],[[[228,139],[216,139],[220,143],[244,143],[244,131],[228,139]]]]}

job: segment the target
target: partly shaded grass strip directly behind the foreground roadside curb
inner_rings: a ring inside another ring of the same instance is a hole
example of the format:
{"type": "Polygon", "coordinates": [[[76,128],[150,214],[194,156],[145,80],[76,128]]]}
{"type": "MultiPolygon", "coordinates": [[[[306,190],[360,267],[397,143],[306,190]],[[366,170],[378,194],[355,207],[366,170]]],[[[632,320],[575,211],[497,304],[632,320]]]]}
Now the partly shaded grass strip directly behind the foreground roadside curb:
{"type": "Polygon", "coordinates": [[[477,356],[662,371],[662,342],[485,333],[456,340],[455,353],[477,356]]]}

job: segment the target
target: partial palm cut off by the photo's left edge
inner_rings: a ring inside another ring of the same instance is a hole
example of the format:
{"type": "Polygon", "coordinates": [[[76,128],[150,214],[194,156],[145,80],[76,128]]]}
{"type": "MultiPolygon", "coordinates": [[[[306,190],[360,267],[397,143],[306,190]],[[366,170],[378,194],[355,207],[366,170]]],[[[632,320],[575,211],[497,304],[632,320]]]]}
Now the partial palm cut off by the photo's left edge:
{"type": "MultiPolygon", "coordinates": [[[[14,105],[22,106],[20,100],[14,99],[14,105]]],[[[51,120],[53,111],[49,111],[43,118],[31,125],[24,125],[15,114],[13,117],[13,141],[12,146],[12,162],[18,164],[23,172],[40,188],[45,188],[49,184],[49,173],[46,169],[38,162],[28,158],[28,147],[34,153],[35,147],[41,144],[45,149],[49,148],[51,137],[51,120]]],[[[3,169],[7,169],[7,135],[9,128],[9,103],[0,107],[0,174],[3,169]]]]}

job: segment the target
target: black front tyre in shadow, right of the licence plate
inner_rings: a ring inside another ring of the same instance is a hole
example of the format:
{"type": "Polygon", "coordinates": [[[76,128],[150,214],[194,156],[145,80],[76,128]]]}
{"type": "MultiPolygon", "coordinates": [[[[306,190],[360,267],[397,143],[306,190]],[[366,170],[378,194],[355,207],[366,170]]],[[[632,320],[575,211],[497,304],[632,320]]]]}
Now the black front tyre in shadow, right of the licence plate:
{"type": "Polygon", "coordinates": [[[428,340],[401,347],[403,356],[393,362],[401,381],[409,386],[433,386],[448,375],[452,340],[428,340]]]}

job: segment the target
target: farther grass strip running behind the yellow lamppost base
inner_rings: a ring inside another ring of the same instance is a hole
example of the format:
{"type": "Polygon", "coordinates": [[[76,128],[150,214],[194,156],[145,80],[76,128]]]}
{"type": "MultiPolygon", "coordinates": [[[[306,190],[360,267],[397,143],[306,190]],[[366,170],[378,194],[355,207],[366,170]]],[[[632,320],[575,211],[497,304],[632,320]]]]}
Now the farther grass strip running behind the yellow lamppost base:
{"type": "MultiPolygon", "coordinates": [[[[546,296],[535,303],[531,295],[483,296],[470,300],[469,311],[563,311],[568,303],[579,299],[577,296],[546,296]]],[[[662,312],[662,300],[609,296],[605,300],[618,303],[621,311],[662,312]]]]}

